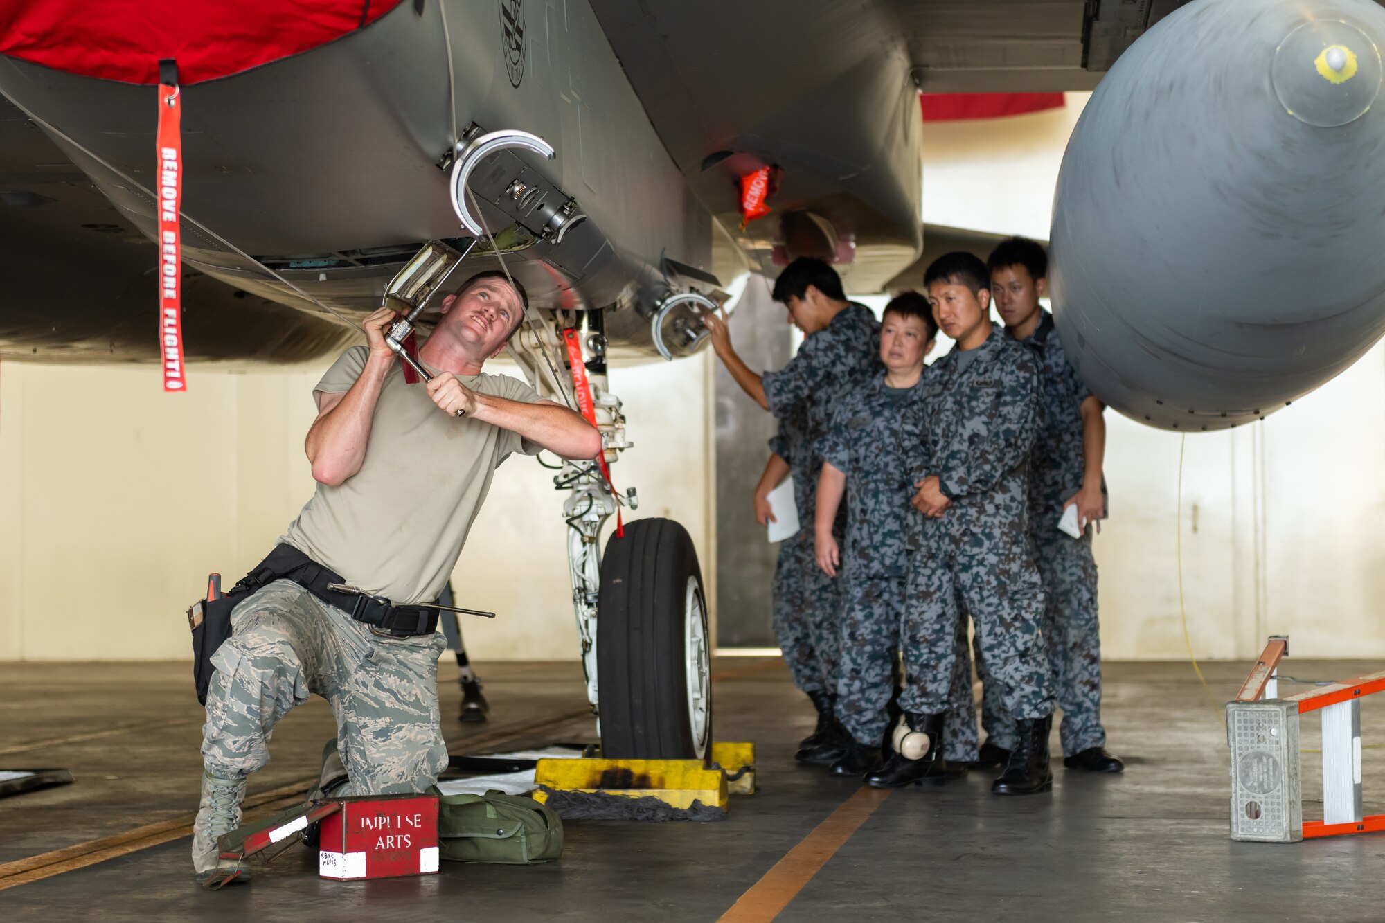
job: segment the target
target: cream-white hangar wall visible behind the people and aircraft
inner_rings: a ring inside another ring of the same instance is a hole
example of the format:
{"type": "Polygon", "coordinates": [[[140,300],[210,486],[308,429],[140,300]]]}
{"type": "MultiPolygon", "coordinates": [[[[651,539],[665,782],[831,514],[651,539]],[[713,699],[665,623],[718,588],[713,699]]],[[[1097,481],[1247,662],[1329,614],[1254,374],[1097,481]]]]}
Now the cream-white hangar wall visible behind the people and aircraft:
{"type": "MultiPolygon", "coordinates": [[[[1062,111],[929,125],[928,222],[1047,237],[1062,111]]],[[[636,516],[672,516],[711,583],[709,356],[616,369],[636,448],[615,467],[636,516]]],[[[0,369],[0,660],[180,658],[202,575],[234,581],[312,492],[302,438],[327,363],[194,367],[187,395],[152,369],[0,369]]],[[[1097,538],[1108,658],[1251,657],[1289,633],[1301,657],[1385,657],[1385,348],[1255,427],[1187,439],[1108,413],[1112,518],[1097,538]]],[[[479,658],[571,658],[561,498],[550,473],[497,473],[456,578],[479,658]]],[[[716,599],[709,586],[709,599],[716,599]]]]}

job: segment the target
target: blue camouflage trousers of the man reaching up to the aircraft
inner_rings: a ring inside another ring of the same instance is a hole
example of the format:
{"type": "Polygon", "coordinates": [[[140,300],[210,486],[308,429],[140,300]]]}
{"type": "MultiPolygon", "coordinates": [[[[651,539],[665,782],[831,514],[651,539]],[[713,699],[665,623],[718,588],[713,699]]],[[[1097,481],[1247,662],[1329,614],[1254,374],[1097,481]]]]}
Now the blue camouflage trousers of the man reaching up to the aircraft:
{"type": "Polygon", "coordinates": [[[813,535],[780,543],[774,565],[774,638],[794,685],[802,692],[837,689],[838,618],[842,581],[832,579],[813,559],[813,535]]]}

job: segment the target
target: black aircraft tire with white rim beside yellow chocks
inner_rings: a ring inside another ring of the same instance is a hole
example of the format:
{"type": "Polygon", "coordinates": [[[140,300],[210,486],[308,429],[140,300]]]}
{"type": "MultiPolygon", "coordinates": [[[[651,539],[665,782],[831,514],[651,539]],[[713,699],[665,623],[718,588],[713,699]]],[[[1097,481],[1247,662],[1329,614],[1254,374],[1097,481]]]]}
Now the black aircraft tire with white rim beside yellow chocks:
{"type": "Polygon", "coordinates": [[[712,747],[711,636],[692,538],[636,520],[601,561],[597,687],[601,755],[702,759],[712,747]]]}

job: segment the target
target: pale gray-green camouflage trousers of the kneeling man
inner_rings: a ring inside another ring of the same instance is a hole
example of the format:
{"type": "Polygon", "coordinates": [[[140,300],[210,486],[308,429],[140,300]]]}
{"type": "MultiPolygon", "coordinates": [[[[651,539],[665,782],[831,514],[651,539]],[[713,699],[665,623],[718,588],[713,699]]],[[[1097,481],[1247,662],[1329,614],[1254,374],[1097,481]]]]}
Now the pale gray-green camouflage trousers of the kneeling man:
{"type": "Polygon", "coordinates": [[[447,766],[438,711],[439,633],[377,635],[291,581],[274,581],[231,613],[231,636],[212,657],[202,765],[244,779],[269,762],[269,739],[288,711],[317,693],[337,717],[350,776],[341,794],[424,791],[447,766]]]}

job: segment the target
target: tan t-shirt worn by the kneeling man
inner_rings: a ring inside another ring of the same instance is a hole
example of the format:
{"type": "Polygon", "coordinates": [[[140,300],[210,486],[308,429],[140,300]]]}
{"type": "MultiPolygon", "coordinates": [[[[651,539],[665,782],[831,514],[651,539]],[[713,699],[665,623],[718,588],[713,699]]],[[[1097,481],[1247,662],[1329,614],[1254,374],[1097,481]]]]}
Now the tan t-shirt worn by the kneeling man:
{"type": "MultiPolygon", "coordinates": [[[[367,346],[352,346],[314,392],[350,389],[368,356],[367,346]]],[[[482,373],[461,383],[481,394],[539,401],[510,376],[482,373]]],[[[319,484],[280,540],[368,593],[431,603],[457,565],[496,466],[511,452],[537,455],[539,446],[511,430],[447,416],[424,383],[404,384],[396,362],[379,391],[360,471],[341,486],[319,484]]]]}

